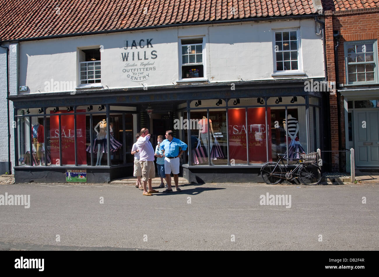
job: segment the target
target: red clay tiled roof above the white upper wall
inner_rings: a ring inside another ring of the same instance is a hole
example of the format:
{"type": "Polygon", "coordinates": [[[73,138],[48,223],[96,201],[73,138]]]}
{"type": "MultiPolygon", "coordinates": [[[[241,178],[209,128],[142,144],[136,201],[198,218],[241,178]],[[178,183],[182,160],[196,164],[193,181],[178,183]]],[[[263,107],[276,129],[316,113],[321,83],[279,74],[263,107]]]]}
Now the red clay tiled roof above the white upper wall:
{"type": "MultiPolygon", "coordinates": [[[[343,9],[355,2],[338,0],[336,5],[332,0],[323,1],[329,9],[331,6],[343,9]]],[[[362,1],[358,8],[379,3],[379,0],[362,1]]],[[[313,11],[312,0],[0,0],[0,39],[312,14],[313,11]]]]}

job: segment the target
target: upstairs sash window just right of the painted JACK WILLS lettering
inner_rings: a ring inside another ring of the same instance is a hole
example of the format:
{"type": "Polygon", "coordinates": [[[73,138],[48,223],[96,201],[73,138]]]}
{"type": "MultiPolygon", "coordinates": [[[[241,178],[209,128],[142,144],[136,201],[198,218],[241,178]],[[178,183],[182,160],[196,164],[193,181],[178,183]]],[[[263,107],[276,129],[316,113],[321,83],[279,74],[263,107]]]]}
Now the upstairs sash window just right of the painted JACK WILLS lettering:
{"type": "Polygon", "coordinates": [[[203,38],[181,40],[182,79],[204,77],[203,38]]]}

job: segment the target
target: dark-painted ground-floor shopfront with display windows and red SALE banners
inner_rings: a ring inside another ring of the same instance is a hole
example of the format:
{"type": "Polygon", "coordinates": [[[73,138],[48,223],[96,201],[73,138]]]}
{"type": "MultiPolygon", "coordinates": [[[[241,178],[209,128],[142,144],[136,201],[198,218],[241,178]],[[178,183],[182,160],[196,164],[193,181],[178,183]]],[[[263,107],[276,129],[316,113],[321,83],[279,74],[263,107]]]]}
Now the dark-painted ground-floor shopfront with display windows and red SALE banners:
{"type": "Polygon", "coordinates": [[[11,96],[16,182],[106,183],[132,176],[130,152],[144,127],[154,147],[168,129],[187,143],[180,174],[189,182],[260,181],[260,167],[278,153],[291,154],[294,145],[309,153],[328,143],[328,124],[321,124],[327,96],[305,92],[305,81],[11,96]]]}

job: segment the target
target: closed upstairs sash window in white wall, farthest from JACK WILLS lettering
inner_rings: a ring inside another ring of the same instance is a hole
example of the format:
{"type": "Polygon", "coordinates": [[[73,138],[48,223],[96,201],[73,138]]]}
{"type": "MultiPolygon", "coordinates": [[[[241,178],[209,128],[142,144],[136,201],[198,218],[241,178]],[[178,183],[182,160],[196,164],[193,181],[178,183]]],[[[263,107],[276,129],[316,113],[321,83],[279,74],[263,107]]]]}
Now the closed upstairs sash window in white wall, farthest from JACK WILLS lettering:
{"type": "Polygon", "coordinates": [[[299,71],[298,30],[275,31],[275,72],[299,71]]]}

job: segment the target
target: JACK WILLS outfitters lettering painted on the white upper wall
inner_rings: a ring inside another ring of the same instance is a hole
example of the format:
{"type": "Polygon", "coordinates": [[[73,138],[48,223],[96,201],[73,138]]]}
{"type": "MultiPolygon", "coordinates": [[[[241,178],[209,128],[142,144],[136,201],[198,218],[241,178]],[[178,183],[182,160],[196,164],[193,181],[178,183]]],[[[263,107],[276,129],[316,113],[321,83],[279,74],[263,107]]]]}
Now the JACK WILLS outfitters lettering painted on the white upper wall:
{"type": "Polygon", "coordinates": [[[155,59],[157,50],[153,50],[153,39],[124,40],[124,50],[121,60],[124,62],[122,72],[133,82],[146,81],[156,70],[155,59]]]}

